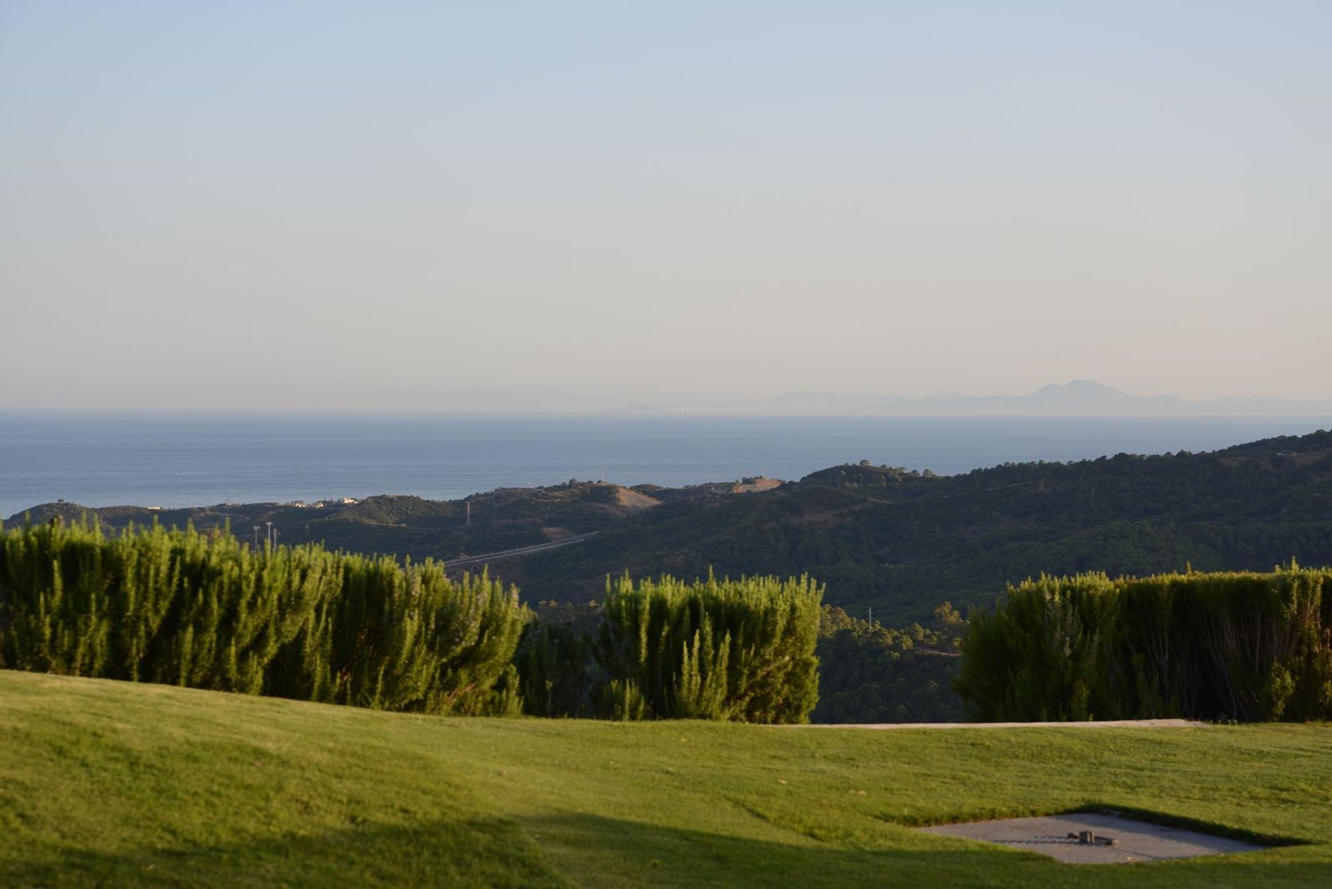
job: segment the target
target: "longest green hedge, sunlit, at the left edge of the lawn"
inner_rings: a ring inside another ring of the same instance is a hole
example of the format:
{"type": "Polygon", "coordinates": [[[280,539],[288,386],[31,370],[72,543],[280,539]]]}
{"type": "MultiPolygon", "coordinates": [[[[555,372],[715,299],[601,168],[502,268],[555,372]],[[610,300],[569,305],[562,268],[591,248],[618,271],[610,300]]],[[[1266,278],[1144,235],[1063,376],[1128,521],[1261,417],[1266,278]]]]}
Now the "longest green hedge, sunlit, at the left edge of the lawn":
{"type": "Polygon", "coordinates": [[[428,713],[518,707],[530,612],[436,563],[229,534],[0,531],[0,667],[428,713]]]}

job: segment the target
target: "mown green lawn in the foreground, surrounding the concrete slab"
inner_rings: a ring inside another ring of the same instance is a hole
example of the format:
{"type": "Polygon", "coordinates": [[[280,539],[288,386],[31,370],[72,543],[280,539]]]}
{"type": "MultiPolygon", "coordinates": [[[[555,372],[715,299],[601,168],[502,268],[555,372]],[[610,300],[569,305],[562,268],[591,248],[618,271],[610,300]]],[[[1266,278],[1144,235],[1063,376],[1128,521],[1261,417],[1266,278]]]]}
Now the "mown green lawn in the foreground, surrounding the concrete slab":
{"type": "Polygon", "coordinates": [[[0,671],[3,886],[1332,884],[1332,728],[445,719],[0,671]],[[1087,805],[1287,837],[1070,866],[910,825],[1087,805]]]}

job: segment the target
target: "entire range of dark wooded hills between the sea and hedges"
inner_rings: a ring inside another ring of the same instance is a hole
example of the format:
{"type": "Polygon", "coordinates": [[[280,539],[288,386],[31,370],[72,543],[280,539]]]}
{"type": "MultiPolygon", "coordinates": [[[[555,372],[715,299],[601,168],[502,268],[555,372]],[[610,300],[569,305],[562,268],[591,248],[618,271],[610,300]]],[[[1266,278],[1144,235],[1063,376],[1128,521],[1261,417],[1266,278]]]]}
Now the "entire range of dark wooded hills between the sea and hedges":
{"type": "MultiPolygon", "coordinates": [[[[601,599],[607,575],[810,574],[827,602],[888,625],[962,611],[1040,572],[1152,574],[1332,563],[1332,433],[1209,454],[1019,463],[936,476],[867,462],[769,487],[570,482],[468,500],[382,496],[325,508],[218,506],[96,510],[111,524],[229,522],[242,539],[272,520],[282,543],[457,558],[594,538],[492,564],[529,602],[601,599]],[[468,506],[470,502],[470,524],[468,506]]],[[[83,512],[73,504],[33,510],[83,512]]],[[[16,516],[21,520],[21,516],[16,516]]],[[[13,519],[11,519],[12,522],[13,519]]],[[[266,528],[266,526],[264,526],[266,528]]]]}

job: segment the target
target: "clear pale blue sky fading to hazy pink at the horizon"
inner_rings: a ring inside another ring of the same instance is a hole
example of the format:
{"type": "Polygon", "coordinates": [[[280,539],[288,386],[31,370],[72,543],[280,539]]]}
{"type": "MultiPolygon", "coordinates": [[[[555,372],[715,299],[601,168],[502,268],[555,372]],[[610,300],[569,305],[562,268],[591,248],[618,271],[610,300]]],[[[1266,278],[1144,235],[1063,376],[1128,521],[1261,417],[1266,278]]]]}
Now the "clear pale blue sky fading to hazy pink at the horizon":
{"type": "Polygon", "coordinates": [[[0,0],[0,407],[1328,397],[1329,47],[1327,0],[0,0]]]}

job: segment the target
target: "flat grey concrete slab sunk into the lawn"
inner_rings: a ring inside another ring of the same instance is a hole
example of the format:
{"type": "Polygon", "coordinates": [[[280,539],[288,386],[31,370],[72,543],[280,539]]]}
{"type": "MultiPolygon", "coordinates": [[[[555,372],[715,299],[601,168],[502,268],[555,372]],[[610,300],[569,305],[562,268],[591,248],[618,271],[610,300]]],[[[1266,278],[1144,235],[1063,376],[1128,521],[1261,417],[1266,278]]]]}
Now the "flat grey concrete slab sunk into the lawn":
{"type": "Polygon", "coordinates": [[[1039,852],[1067,864],[1164,861],[1204,854],[1259,852],[1264,848],[1228,837],[1166,828],[1112,814],[1075,813],[1038,818],[1000,818],[940,824],[920,830],[1039,852]],[[1086,837],[1082,837],[1084,832],[1100,840],[1087,842],[1086,837]],[[1114,840],[1114,845],[1104,844],[1104,840],[1114,840]]]}

